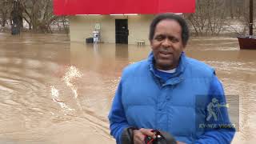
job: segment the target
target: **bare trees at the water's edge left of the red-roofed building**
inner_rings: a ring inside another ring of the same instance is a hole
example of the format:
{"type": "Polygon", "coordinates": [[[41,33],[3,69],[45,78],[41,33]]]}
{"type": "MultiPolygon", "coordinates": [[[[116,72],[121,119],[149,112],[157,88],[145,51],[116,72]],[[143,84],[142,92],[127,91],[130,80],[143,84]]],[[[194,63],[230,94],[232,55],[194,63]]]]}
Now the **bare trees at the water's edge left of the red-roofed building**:
{"type": "Polygon", "coordinates": [[[34,32],[53,33],[54,30],[62,30],[69,33],[66,16],[53,14],[52,0],[1,0],[0,25],[10,26],[14,17],[21,17],[23,22],[20,22],[20,26],[27,23],[27,28],[34,32]]]}

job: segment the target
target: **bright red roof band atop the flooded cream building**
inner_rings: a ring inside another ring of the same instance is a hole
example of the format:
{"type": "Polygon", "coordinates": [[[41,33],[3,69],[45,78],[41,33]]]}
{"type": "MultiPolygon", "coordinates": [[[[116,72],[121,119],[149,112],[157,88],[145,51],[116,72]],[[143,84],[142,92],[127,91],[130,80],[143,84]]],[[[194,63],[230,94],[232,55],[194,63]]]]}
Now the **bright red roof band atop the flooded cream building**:
{"type": "Polygon", "coordinates": [[[195,0],[54,0],[54,14],[194,13],[195,0]]]}

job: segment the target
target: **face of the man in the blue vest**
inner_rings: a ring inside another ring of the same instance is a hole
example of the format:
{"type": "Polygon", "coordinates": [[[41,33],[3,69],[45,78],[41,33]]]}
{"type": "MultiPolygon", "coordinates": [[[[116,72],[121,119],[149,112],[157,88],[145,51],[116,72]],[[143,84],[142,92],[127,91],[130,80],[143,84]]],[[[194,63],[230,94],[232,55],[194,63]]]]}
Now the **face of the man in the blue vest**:
{"type": "Polygon", "coordinates": [[[185,48],[182,44],[182,26],[171,19],[158,22],[150,45],[154,53],[155,66],[158,69],[171,70],[176,68],[185,48]]]}

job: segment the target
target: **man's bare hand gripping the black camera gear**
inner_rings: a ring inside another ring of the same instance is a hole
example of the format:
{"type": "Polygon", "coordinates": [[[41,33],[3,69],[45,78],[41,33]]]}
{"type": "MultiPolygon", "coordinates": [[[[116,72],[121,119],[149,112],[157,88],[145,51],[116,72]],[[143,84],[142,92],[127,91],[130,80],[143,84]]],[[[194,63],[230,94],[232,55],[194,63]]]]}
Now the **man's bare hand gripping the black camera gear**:
{"type": "Polygon", "coordinates": [[[140,129],[134,130],[134,144],[145,144],[145,137],[150,136],[151,138],[155,138],[155,134],[151,132],[152,129],[140,129]]]}

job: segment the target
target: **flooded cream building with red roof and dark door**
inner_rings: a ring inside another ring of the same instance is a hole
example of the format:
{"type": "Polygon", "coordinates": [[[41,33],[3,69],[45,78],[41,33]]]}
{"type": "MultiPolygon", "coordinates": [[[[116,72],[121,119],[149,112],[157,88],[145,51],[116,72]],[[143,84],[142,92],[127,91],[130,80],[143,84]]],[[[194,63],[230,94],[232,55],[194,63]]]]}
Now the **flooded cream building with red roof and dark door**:
{"type": "Polygon", "coordinates": [[[98,37],[98,42],[149,44],[155,14],[194,9],[195,0],[54,0],[54,14],[70,15],[70,41],[75,42],[98,37]]]}

